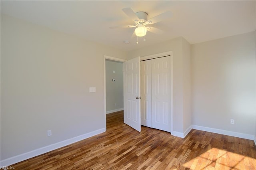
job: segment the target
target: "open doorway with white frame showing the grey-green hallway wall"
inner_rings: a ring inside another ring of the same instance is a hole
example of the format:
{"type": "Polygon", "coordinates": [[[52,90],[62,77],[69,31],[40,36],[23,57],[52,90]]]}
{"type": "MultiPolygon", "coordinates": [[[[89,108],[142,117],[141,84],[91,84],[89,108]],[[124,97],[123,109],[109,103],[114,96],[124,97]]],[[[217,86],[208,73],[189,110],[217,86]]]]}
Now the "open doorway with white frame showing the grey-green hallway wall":
{"type": "Polygon", "coordinates": [[[106,114],[124,109],[123,62],[125,61],[124,59],[104,56],[105,127],[106,114]]]}

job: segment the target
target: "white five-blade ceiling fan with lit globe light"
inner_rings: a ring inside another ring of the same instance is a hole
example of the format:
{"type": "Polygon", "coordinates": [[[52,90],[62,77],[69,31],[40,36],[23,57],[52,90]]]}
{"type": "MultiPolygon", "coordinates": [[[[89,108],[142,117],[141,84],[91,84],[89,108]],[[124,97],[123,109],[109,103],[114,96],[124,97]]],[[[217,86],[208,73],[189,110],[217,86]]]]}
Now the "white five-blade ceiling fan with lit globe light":
{"type": "Polygon", "coordinates": [[[123,8],[122,11],[134,22],[134,25],[128,25],[128,26],[113,26],[110,28],[134,28],[135,34],[137,37],[143,37],[147,34],[147,31],[153,32],[155,34],[161,34],[162,30],[147,26],[150,24],[155,24],[157,22],[160,22],[162,20],[166,20],[172,16],[172,13],[170,11],[164,12],[162,14],[159,14],[158,16],[155,16],[153,18],[150,18],[148,20],[148,14],[146,12],[134,12],[131,8],[123,8]]]}

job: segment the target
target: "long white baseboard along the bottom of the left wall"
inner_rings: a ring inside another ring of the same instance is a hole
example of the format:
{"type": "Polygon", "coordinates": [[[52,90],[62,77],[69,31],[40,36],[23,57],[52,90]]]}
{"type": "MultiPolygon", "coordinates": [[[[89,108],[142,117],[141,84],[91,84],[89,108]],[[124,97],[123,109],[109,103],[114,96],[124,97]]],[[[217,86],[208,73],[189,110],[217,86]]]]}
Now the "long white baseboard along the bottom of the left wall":
{"type": "Polygon", "coordinates": [[[10,165],[15,164],[17,162],[21,162],[23,160],[26,160],[26,159],[29,159],[29,158],[33,158],[34,156],[38,156],[40,154],[44,154],[46,152],[50,152],[52,150],[61,148],[63,146],[67,146],[67,145],[72,144],[74,142],[78,142],[80,140],[84,140],[86,138],[89,138],[91,136],[94,136],[96,134],[100,134],[100,133],[103,133],[103,132],[106,132],[105,128],[94,130],[93,132],[82,134],[82,135],[76,136],[74,138],[63,140],[63,141],[57,142],[55,144],[51,144],[51,145],[48,145],[48,146],[44,146],[42,148],[38,148],[36,150],[32,150],[30,152],[26,152],[26,153],[23,153],[23,154],[20,154],[20,155],[17,155],[17,156],[13,156],[11,158],[7,158],[7,159],[4,159],[4,160],[0,161],[0,166],[10,166],[10,165]]]}

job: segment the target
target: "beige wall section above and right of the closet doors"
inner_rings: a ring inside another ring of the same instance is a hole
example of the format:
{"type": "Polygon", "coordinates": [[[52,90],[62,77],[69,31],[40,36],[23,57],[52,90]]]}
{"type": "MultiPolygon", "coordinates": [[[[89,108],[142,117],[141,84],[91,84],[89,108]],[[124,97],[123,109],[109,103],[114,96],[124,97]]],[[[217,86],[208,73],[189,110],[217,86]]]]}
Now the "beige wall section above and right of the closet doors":
{"type": "MultiPolygon", "coordinates": [[[[184,68],[184,59],[188,59],[189,45],[184,38],[175,38],[167,42],[158,43],[141,49],[128,52],[128,59],[134,57],[142,57],[147,55],[153,55],[166,51],[173,51],[173,131],[177,135],[182,135],[190,125],[191,120],[184,118],[184,111],[186,116],[190,117],[191,111],[189,111],[190,103],[189,99],[184,99],[185,93],[189,93],[189,85],[184,85],[184,77],[190,77],[189,68],[184,68]],[[184,73],[185,72],[185,73],[184,73]],[[186,89],[188,88],[188,89],[186,89]],[[184,101],[186,102],[184,105],[184,101]],[[186,125],[184,125],[184,120],[186,125]]],[[[185,65],[190,65],[189,61],[186,61],[185,65]]],[[[187,80],[185,80],[187,81],[187,80]]],[[[189,80],[188,80],[189,81],[189,80]]]]}

